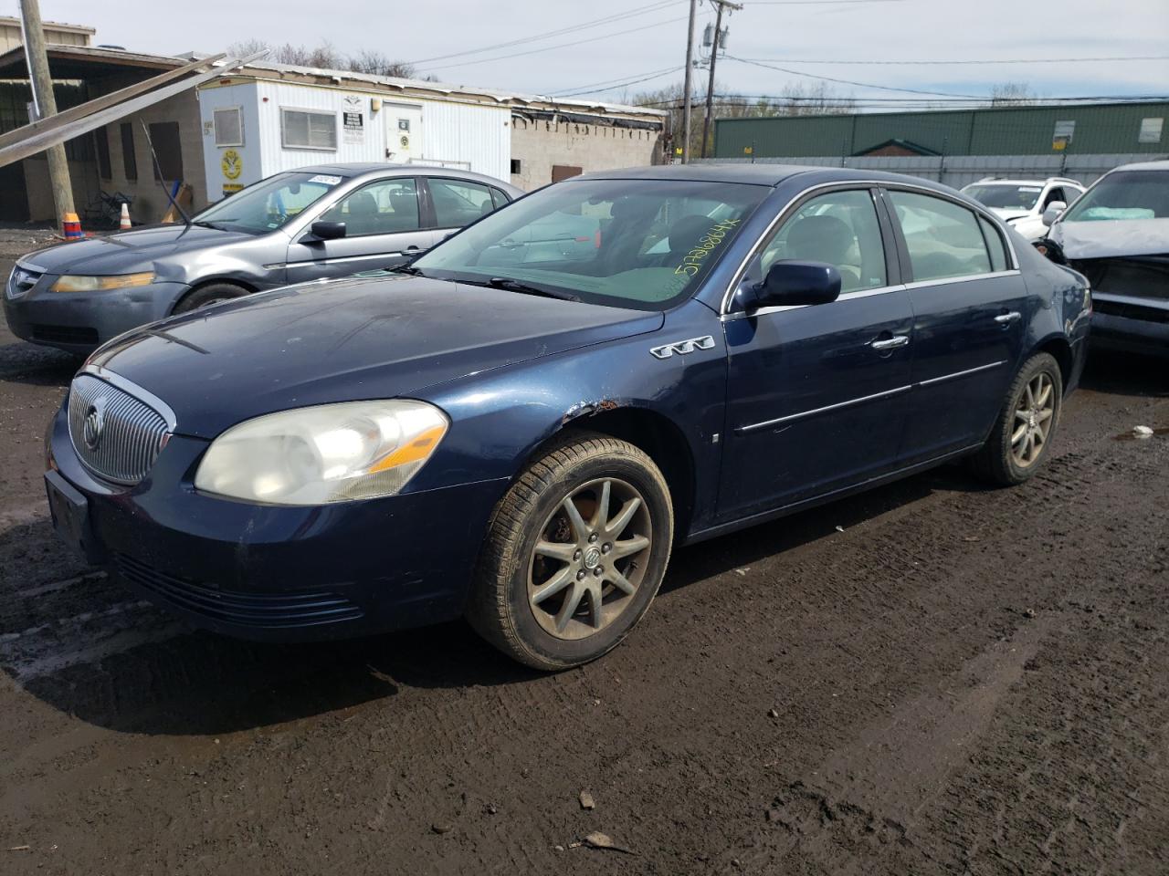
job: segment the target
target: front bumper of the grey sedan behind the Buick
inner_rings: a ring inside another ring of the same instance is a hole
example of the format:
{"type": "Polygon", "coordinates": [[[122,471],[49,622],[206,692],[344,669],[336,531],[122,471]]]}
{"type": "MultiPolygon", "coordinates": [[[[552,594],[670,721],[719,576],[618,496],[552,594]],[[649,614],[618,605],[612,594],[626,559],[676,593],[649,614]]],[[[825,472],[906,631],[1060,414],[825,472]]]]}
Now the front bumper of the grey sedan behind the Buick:
{"type": "Polygon", "coordinates": [[[131,328],[167,317],[189,286],[152,283],[109,292],[49,292],[44,274],[19,298],[5,291],[4,312],[18,338],[85,355],[131,328]]]}

